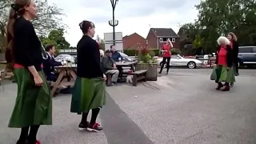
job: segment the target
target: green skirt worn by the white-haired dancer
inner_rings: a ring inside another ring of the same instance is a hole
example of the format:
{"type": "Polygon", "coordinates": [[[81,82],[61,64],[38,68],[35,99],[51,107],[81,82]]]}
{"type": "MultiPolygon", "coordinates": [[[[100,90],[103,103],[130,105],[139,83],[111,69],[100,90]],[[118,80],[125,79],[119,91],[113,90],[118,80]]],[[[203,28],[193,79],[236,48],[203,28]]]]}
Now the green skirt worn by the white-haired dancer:
{"type": "Polygon", "coordinates": [[[215,82],[235,82],[234,68],[228,69],[226,66],[219,65],[213,69],[210,79],[215,82]]]}

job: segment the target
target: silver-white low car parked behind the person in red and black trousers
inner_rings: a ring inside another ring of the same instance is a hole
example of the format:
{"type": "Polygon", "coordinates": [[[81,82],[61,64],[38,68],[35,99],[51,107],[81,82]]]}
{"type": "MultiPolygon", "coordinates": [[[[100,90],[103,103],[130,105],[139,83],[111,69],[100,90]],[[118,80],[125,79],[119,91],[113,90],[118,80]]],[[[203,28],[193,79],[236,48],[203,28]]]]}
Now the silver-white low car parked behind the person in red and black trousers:
{"type": "MultiPolygon", "coordinates": [[[[162,58],[158,58],[157,60],[158,65],[162,66],[162,58]]],[[[195,58],[183,58],[180,55],[172,55],[170,58],[170,66],[186,66],[190,69],[195,69],[202,66],[202,61],[195,58]]]]}

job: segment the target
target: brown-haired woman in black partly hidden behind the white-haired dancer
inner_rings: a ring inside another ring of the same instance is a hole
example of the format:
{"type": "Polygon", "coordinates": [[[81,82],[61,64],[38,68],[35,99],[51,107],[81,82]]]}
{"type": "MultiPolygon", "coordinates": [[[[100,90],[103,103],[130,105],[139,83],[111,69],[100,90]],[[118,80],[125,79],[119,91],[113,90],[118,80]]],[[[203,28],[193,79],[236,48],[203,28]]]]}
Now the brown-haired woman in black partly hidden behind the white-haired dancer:
{"type": "MultiPolygon", "coordinates": [[[[227,38],[230,40],[230,46],[233,50],[233,69],[234,69],[234,75],[238,76],[239,72],[238,72],[238,38],[237,36],[230,32],[227,34],[227,38]]],[[[234,82],[230,83],[230,86],[234,86],[234,82]]]]}

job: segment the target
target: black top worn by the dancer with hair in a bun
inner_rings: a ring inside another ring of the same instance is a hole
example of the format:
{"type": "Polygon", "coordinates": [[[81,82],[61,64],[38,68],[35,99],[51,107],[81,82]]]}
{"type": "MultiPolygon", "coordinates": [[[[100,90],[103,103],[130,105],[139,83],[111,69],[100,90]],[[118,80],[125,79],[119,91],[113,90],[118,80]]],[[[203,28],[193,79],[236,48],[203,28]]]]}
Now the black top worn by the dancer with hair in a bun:
{"type": "Polygon", "coordinates": [[[77,74],[82,78],[102,78],[98,43],[88,35],[83,35],[77,46],[77,74]]]}

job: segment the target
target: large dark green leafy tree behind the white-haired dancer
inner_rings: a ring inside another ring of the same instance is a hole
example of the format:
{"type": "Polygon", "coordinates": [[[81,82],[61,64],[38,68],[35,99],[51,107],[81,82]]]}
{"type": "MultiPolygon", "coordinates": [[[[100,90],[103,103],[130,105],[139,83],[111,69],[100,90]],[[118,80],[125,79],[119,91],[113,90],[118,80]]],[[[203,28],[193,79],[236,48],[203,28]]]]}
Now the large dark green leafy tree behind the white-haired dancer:
{"type": "Polygon", "coordinates": [[[216,39],[233,31],[242,45],[256,42],[256,2],[254,0],[206,0],[196,6],[198,26],[203,29],[206,47],[214,51],[216,39]],[[210,48],[211,47],[211,48],[210,48]]]}

